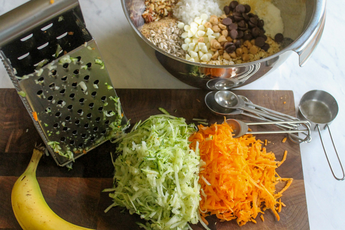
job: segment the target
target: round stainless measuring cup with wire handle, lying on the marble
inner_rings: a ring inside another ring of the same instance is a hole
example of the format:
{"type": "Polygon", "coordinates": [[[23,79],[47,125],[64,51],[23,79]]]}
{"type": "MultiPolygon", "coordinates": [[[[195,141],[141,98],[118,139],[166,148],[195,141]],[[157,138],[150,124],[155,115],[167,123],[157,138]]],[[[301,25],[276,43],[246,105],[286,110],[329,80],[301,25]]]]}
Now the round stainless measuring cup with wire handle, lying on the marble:
{"type": "Polygon", "coordinates": [[[311,123],[311,130],[318,130],[321,139],[322,147],[324,149],[329,168],[331,168],[333,177],[339,181],[345,179],[344,168],[342,162],[339,158],[337,149],[335,147],[331,129],[329,129],[329,124],[335,119],[338,114],[338,103],[334,97],[322,90],[312,90],[306,92],[298,105],[298,116],[301,119],[308,120],[311,123]],[[331,162],[329,162],[327,151],[322,140],[321,129],[328,128],[329,136],[331,136],[332,144],[337,155],[340,167],[343,172],[343,177],[338,178],[333,172],[331,162]]]}

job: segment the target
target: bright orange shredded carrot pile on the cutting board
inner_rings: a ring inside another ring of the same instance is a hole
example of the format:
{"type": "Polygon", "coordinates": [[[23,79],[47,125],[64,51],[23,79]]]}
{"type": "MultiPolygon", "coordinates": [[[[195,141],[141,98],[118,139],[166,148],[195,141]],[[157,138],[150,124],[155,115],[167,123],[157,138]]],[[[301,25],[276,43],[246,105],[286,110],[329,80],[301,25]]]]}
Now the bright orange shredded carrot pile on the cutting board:
{"type": "Polygon", "coordinates": [[[242,226],[248,221],[256,223],[258,213],[271,209],[279,220],[276,210],[283,205],[279,198],[293,179],[279,177],[275,169],[283,162],[266,152],[262,141],[251,134],[233,138],[232,131],[226,122],[199,125],[199,131],[189,138],[191,149],[199,143],[201,218],[207,224],[205,217],[215,214],[222,221],[236,219],[242,226]],[[276,193],[276,184],[285,181],[276,193]]]}

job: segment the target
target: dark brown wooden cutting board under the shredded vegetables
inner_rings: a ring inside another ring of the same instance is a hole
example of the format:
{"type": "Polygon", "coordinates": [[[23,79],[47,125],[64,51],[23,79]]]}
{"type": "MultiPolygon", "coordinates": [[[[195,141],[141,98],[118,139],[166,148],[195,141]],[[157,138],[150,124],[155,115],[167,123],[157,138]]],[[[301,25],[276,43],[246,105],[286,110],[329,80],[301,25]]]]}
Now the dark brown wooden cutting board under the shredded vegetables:
{"type": "MultiPolygon", "coordinates": [[[[239,95],[248,97],[253,103],[295,116],[294,96],[292,91],[234,90],[239,95]],[[284,104],[284,102],[286,102],[284,104]]],[[[210,122],[221,122],[223,117],[211,113],[204,102],[206,90],[178,89],[117,89],[122,107],[131,124],[159,114],[158,107],[163,107],[177,117],[207,118],[210,122]],[[176,110],[176,112],[174,112],[176,110]]],[[[21,229],[11,207],[11,189],[14,182],[27,167],[35,143],[42,140],[33,126],[14,89],[0,89],[0,229],[21,229]]],[[[230,116],[229,116],[230,118],[230,116]]],[[[233,117],[231,117],[233,118],[233,117]]],[[[237,119],[249,121],[238,115],[237,119]]],[[[253,121],[253,120],[252,120],[253,121]]],[[[271,127],[258,127],[264,130],[271,127]]],[[[309,229],[307,203],[305,197],[302,162],[299,145],[289,139],[282,143],[285,134],[257,135],[259,139],[271,141],[268,151],[281,160],[285,150],[287,159],[277,169],[281,177],[292,177],[294,181],[284,192],[282,202],[286,204],[279,213],[277,221],[270,210],[264,214],[265,221],[256,218],[257,224],[247,223],[238,227],[236,221],[220,222],[209,219],[209,227],[219,230],[228,229],[267,229],[267,230],[307,230],[309,229]]],[[[48,205],[63,219],[74,224],[93,229],[139,229],[136,221],[142,221],[138,215],[130,215],[122,208],[104,210],[112,203],[105,188],[112,187],[112,166],[109,152],[115,144],[109,142],[92,150],[73,163],[73,170],[58,167],[50,156],[43,156],[37,169],[37,179],[48,205]]],[[[202,229],[198,224],[193,229],[202,229]]]]}

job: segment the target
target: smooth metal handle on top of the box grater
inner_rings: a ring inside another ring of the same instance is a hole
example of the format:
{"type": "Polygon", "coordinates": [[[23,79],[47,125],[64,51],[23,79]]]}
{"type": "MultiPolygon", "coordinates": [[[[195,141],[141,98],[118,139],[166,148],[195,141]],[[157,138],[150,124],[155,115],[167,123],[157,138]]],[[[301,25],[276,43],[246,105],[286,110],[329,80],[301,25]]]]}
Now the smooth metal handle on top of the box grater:
{"type": "Polygon", "coordinates": [[[0,16],[0,48],[40,24],[76,8],[85,25],[78,0],[31,0],[0,16]]]}

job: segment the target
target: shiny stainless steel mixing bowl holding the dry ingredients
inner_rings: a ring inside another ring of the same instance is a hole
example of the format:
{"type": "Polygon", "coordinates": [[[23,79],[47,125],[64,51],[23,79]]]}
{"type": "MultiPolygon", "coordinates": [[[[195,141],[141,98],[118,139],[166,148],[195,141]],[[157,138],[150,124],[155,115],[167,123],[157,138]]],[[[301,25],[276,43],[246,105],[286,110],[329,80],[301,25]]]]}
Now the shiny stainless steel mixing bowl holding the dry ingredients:
{"type": "Polygon", "coordinates": [[[231,89],[253,82],[280,66],[292,53],[291,51],[299,55],[301,67],[309,60],[325,26],[326,0],[272,0],[272,2],[281,12],[284,37],[289,38],[285,42],[286,46],[274,55],[258,61],[216,66],[190,62],[156,47],[140,32],[144,24],[141,14],[145,10],[145,0],[121,0],[126,18],[139,36],[140,46],[144,46],[145,49],[147,46],[155,49],[158,61],[180,81],[210,90],[231,89]],[[212,71],[213,68],[218,70],[212,71]],[[216,76],[213,73],[217,73],[216,76]]]}

